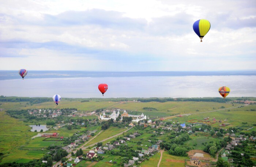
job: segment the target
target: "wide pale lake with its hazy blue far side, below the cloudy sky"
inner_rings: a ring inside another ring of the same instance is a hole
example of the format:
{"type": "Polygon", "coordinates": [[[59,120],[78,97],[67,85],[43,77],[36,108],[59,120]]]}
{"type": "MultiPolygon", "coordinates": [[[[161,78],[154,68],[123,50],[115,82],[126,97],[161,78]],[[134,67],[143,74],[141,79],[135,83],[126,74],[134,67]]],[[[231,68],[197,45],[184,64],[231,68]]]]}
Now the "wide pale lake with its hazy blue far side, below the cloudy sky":
{"type": "Polygon", "coordinates": [[[105,77],[101,72],[69,71],[65,77],[63,71],[40,71],[40,75],[34,71],[30,72],[31,76],[28,72],[24,80],[18,72],[15,73],[10,71],[9,77],[0,71],[0,76],[5,75],[0,79],[0,95],[52,97],[59,94],[62,98],[221,97],[218,88],[227,86],[230,88],[228,97],[256,96],[255,71],[106,72],[105,77]],[[98,90],[100,83],[108,84],[104,96],[98,90]]]}

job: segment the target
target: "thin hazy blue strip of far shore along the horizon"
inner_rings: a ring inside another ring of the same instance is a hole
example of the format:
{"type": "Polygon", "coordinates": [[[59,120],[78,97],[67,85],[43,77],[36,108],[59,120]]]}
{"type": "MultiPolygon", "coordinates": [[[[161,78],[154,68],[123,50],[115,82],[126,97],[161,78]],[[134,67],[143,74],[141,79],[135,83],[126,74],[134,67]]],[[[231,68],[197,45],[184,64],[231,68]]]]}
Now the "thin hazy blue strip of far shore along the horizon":
{"type": "MultiPolygon", "coordinates": [[[[34,71],[28,70],[25,79],[77,78],[77,77],[162,77],[162,76],[256,76],[256,70],[248,71],[144,71],[144,72],[97,72],[97,71],[34,71]]],[[[0,70],[0,80],[20,79],[17,71],[0,70]]]]}

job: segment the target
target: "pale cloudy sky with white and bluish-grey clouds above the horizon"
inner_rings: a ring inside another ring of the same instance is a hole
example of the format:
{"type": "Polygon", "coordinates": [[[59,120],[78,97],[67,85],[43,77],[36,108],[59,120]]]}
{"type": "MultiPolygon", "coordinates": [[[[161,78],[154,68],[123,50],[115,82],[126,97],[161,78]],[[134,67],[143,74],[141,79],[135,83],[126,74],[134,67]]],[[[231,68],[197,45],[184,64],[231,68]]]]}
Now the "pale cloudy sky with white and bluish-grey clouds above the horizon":
{"type": "Polygon", "coordinates": [[[255,0],[0,0],[0,70],[256,70],[255,0]],[[200,42],[193,23],[211,29],[200,42]]]}

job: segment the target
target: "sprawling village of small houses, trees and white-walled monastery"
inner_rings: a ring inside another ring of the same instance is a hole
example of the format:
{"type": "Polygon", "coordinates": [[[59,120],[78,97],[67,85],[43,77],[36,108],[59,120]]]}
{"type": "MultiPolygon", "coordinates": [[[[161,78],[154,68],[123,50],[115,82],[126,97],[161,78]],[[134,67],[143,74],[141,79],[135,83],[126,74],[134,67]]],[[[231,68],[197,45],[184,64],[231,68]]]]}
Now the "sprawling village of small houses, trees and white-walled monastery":
{"type": "MultiPolygon", "coordinates": [[[[154,109],[153,107],[145,108],[154,109]]],[[[219,109],[222,108],[222,106],[219,107],[219,109]]],[[[251,135],[239,133],[252,129],[252,124],[241,122],[242,125],[234,128],[232,120],[228,117],[212,117],[207,114],[202,117],[192,117],[191,114],[181,113],[167,117],[153,117],[144,113],[147,111],[120,108],[99,109],[86,113],[65,108],[28,109],[23,116],[19,117],[16,114],[15,117],[27,118],[24,119],[27,125],[34,124],[35,120],[46,123],[50,132],[41,133],[42,142],[60,141],[58,147],[50,148],[50,154],[55,156],[57,149],[60,148],[70,155],[67,158],[65,156],[59,159],[54,158],[53,164],[62,166],[79,167],[85,163],[94,162],[126,167],[140,166],[163,151],[183,159],[186,157],[182,162],[187,166],[212,165],[216,164],[218,159],[233,164],[237,162],[234,151],[240,150],[240,156],[247,158],[248,153],[242,147],[245,142],[248,142],[250,143],[248,147],[251,148],[251,143],[255,141],[254,133],[251,135]],[[109,136],[100,137],[102,140],[94,139],[95,137],[97,139],[101,132],[111,131],[111,129],[120,130],[119,132],[123,130],[123,133],[119,133],[118,136],[113,135],[108,141],[103,139],[109,136]],[[197,151],[197,138],[200,137],[205,138],[207,142],[199,143],[201,151],[197,151]],[[87,144],[89,142],[90,144],[87,144]],[[212,142],[217,145],[216,148],[218,147],[214,152],[206,149],[212,142]]],[[[41,162],[48,163],[45,159],[41,162]]]]}

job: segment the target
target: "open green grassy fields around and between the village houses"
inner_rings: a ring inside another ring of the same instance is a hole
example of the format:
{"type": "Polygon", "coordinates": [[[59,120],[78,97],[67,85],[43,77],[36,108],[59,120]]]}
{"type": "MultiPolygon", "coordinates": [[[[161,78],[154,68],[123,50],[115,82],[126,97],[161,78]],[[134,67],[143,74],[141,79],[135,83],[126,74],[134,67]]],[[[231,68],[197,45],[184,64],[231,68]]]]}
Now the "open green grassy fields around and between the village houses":
{"type": "MultiPolygon", "coordinates": [[[[217,121],[221,120],[222,122],[226,119],[225,123],[230,125],[226,126],[225,128],[228,129],[229,127],[240,127],[242,125],[246,126],[253,126],[256,124],[256,105],[248,105],[244,107],[238,107],[242,104],[232,104],[232,103],[217,103],[217,102],[113,102],[108,101],[108,99],[92,99],[89,102],[80,102],[82,99],[63,99],[58,106],[56,106],[53,102],[45,102],[30,105],[27,102],[1,102],[1,109],[5,109],[0,111],[0,152],[4,153],[1,157],[1,164],[6,162],[29,162],[33,159],[39,159],[46,153],[46,148],[50,145],[62,145],[63,142],[56,140],[56,141],[44,141],[42,137],[36,137],[34,140],[31,138],[35,136],[36,132],[31,132],[30,127],[27,126],[23,121],[20,121],[15,118],[11,118],[9,115],[5,113],[6,110],[21,110],[21,109],[43,109],[43,108],[53,108],[53,109],[61,109],[61,108],[77,108],[79,112],[86,113],[91,112],[96,109],[124,109],[127,110],[129,114],[140,115],[141,113],[145,114],[147,118],[154,119],[154,118],[161,118],[161,117],[169,117],[170,115],[177,115],[177,114],[186,114],[182,117],[174,117],[165,119],[163,122],[173,122],[177,121],[180,123],[189,124],[187,122],[191,119],[201,119],[209,117],[209,120],[215,118],[217,121]],[[152,107],[156,110],[145,110],[144,107],[152,107]],[[223,108],[225,107],[225,108],[223,108]],[[231,109],[232,107],[236,107],[231,109]],[[223,109],[223,110],[220,110],[223,109]],[[214,112],[208,112],[213,110],[220,110],[214,112]],[[206,113],[201,113],[206,112],[206,113]],[[242,124],[242,123],[247,124],[242,124]]],[[[121,112],[122,113],[122,112],[121,112]]],[[[77,117],[79,118],[79,117],[77,117]]],[[[73,118],[73,119],[77,119],[73,118]]],[[[85,117],[83,117],[85,118],[85,117]]],[[[86,118],[97,118],[96,115],[88,116],[86,118]]],[[[38,123],[38,122],[37,122],[38,123]]],[[[39,122],[41,125],[45,122],[39,122]]],[[[211,126],[219,127],[218,125],[221,123],[215,123],[211,126]]],[[[223,127],[222,127],[223,128],[223,127]]],[[[82,132],[84,130],[95,130],[97,129],[97,133],[101,130],[100,126],[89,126],[87,128],[81,129],[71,129],[67,130],[66,128],[60,128],[58,130],[50,129],[46,133],[54,133],[57,132],[60,136],[70,137],[74,133],[78,131],[82,132]]],[[[147,128],[150,129],[150,128],[147,128]]],[[[141,132],[143,134],[132,139],[131,142],[127,142],[128,146],[133,146],[134,148],[142,147],[146,149],[148,146],[152,145],[152,143],[148,142],[153,135],[150,130],[144,129],[141,132]],[[140,144],[138,144],[138,142],[140,144]],[[147,145],[147,146],[146,146],[147,145]]],[[[99,136],[97,136],[94,140],[90,141],[87,145],[96,143],[101,141],[105,138],[113,136],[114,134],[120,133],[125,129],[119,129],[117,127],[111,127],[107,130],[104,130],[99,136]]],[[[255,130],[255,127],[250,129],[249,131],[255,130]]],[[[124,133],[121,136],[126,134],[130,134],[135,132],[136,130],[132,128],[128,132],[124,133]]],[[[246,130],[244,130],[246,132],[246,130]]],[[[39,132],[40,133],[40,132],[39,132]]],[[[169,132],[166,132],[163,136],[157,136],[154,138],[167,140],[167,136],[169,132]]],[[[204,145],[202,143],[211,141],[211,140],[218,140],[218,138],[213,138],[210,136],[205,135],[205,133],[197,133],[191,135],[190,138],[192,140],[187,141],[185,144],[196,149],[203,149],[204,145]],[[196,146],[195,146],[196,145],[196,146]]],[[[114,140],[112,138],[108,141],[103,142],[103,144],[114,140]]],[[[106,158],[100,162],[92,163],[82,161],[77,166],[118,166],[117,164],[108,163],[109,160],[120,162],[121,158],[119,156],[109,156],[105,155],[106,158]]],[[[150,157],[148,161],[143,162],[140,166],[150,167],[150,166],[157,166],[158,160],[160,158],[160,153],[155,154],[153,157],[150,157]]],[[[163,159],[160,166],[184,166],[184,159],[185,157],[176,157],[169,155],[167,151],[163,153],[163,159]],[[182,162],[181,162],[182,161],[182,162]]]]}

